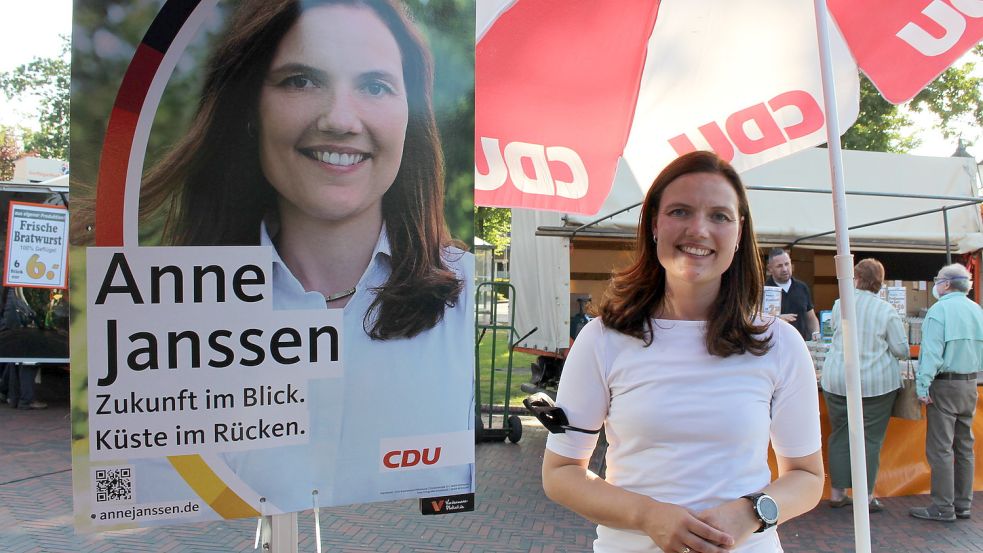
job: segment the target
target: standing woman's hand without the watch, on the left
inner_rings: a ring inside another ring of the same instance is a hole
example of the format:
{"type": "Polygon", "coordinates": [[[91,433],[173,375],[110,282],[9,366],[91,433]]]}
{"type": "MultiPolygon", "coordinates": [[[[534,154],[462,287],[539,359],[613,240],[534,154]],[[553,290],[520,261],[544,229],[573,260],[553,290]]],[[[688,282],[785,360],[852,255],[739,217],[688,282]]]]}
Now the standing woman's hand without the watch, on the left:
{"type": "Polygon", "coordinates": [[[666,553],[726,553],[734,546],[732,534],[700,518],[678,505],[653,501],[642,530],[666,553]]]}

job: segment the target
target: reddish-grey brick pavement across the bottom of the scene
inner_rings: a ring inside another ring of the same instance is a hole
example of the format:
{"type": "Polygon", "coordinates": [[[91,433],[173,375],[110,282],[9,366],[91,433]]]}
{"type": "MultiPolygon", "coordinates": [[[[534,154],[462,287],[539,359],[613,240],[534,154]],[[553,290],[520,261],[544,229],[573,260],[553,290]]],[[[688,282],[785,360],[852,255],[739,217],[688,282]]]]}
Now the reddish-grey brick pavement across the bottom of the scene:
{"type": "MultiPolygon", "coordinates": [[[[325,551],[589,551],[592,525],[548,501],[539,484],[545,431],[526,426],[519,444],[478,445],[478,507],[423,517],[412,501],[325,509],[325,551]]],[[[0,407],[0,553],[206,553],[251,551],[254,520],[75,535],[71,515],[68,407],[25,412],[0,407]]],[[[980,498],[983,500],[983,497],[980,498]]],[[[939,524],[907,508],[927,497],[888,498],[871,515],[874,551],[983,552],[983,513],[939,524]]],[[[983,505],[983,504],[979,504],[983,505]]],[[[309,514],[300,517],[301,551],[314,551],[309,514]]],[[[821,504],[781,527],[788,553],[853,551],[850,509],[821,504]]]]}

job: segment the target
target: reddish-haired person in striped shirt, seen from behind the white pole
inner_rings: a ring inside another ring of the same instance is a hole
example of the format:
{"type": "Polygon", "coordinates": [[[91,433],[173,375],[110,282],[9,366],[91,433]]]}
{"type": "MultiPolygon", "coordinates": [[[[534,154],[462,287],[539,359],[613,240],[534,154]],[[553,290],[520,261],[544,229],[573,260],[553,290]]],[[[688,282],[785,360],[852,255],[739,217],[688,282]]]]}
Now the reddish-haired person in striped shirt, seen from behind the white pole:
{"type": "MultiPolygon", "coordinates": [[[[874,498],[874,483],[880,465],[881,445],[891,419],[891,408],[901,387],[901,373],[895,359],[908,358],[908,338],[901,316],[877,293],[884,283],[884,265],[864,259],[853,268],[856,302],[857,349],[860,353],[860,391],[863,395],[864,452],[867,457],[867,492],[870,510],[884,505],[874,498]]],[[[826,399],[830,435],[827,454],[831,484],[830,506],[851,503],[846,489],[852,488],[850,475],[850,433],[847,428],[846,374],[843,356],[843,325],[840,301],[833,304],[833,343],[823,365],[821,385],[826,399]]]]}

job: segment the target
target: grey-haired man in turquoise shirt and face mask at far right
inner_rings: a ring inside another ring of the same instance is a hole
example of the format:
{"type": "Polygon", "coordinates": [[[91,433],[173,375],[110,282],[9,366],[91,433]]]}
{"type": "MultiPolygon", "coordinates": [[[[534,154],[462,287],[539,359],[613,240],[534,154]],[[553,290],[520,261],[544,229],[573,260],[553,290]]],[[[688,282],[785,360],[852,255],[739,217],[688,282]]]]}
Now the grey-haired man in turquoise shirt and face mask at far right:
{"type": "Polygon", "coordinates": [[[966,297],[971,286],[962,265],[942,267],[932,288],[939,301],[922,323],[916,391],[928,405],[925,456],[932,468],[932,505],[912,507],[915,518],[970,517],[976,374],[983,371],[983,310],[966,297]]]}

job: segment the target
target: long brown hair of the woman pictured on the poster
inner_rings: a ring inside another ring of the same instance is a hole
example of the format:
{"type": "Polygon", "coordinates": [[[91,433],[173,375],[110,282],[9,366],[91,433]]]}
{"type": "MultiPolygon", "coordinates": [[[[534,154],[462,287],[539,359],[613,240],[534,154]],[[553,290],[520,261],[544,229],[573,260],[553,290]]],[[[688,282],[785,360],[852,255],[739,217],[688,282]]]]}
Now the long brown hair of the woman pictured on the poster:
{"type": "Polygon", "coordinates": [[[463,283],[448,268],[443,156],[431,97],[433,60],[398,0],[245,0],[208,63],[188,134],[144,177],[140,211],[168,210],[174,245],[255,245],[276,192],[259,162],[247,121],[258,119],[262,81],[282,38],[303,10],[321,5],[370,9],[392,32],[403,58],[409,120],[403,158],[382,199],[392,273],[376,289],[363,326],[372,338],[410,338],[435,326],[463,283]]]}

